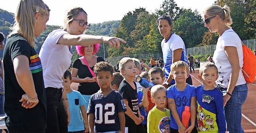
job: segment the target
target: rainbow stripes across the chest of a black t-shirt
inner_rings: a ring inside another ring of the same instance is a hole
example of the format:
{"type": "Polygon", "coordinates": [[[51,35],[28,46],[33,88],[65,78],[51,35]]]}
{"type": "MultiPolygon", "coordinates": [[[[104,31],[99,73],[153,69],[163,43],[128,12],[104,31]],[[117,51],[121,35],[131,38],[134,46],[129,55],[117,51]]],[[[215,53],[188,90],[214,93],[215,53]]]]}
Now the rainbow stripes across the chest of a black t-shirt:
{"type": "Polygon", "coordinates": [[[30,68],[30,71],[32,74],[38,73],[43,70],[41,60],[40,60],[38,54],[36,54],[34,56],[30,56],[30,62],[31,63],[29,65],[29,68],[30,68]]]}

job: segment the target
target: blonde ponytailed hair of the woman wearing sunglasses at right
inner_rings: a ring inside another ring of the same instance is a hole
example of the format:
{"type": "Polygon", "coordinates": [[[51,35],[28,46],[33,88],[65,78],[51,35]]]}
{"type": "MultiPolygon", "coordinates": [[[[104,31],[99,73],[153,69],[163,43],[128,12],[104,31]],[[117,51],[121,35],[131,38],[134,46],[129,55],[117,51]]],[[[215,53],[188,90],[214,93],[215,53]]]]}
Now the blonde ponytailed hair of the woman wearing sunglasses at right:
{"type": "Polygon", "coordinates": [[[230,16],[230,8],[226,4],[223,7],[220,7],[218,5],[209,6],[208,8],[204,9],[203,15],[208,17],[219,15],[221,20],[223,20],[226,24],[226,26],[232,28],[230,26],[233,23],[230,16]]]}

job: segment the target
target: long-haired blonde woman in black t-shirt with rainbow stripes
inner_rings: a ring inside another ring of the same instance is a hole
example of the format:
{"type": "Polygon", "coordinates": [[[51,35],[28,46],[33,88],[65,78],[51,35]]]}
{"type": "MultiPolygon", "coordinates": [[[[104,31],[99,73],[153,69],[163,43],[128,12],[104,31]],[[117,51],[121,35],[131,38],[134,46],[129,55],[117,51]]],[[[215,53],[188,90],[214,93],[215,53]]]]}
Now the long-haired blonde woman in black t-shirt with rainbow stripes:
{"type": "Polygon", "coordinates": [[[20,0],[14,31],[4,49],[4,110],[9,133],[44,133],[46,93],[35,37],[46,29],[50,10],[42,0],[20,0]]]}

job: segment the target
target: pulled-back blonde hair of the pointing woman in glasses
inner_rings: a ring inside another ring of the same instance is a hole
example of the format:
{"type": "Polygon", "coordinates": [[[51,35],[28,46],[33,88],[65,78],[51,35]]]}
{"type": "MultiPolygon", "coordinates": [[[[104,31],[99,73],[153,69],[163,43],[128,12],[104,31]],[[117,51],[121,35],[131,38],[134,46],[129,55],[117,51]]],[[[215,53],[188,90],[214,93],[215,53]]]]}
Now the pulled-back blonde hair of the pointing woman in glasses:
{"type": "Polygon", "coordinates": [[[76,16],[78,16],[78,14],[80,14],[81,12],[84,12],[87,15],[84,9],[80,7],[75,7],[68,10],[67,14],[65,15],[64,26],[62,27],[64,31],[70,33],[69,23],[73,21],[74,18],[76,18],[76,16]]]}

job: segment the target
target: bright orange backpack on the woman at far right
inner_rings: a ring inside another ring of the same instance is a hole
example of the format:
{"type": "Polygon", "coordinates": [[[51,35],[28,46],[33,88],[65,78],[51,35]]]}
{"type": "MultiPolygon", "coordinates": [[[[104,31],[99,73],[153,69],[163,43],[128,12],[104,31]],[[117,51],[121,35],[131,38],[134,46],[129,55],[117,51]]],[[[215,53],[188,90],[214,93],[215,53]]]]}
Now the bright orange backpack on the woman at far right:
{"type": "Polygon", "coordinates": [[[256,75],[256,56],[252,50],[250,50],[244,44],[242,44],[242,48],[244,54],[242,73],[246,82],[253,83],[256,75]]]}

